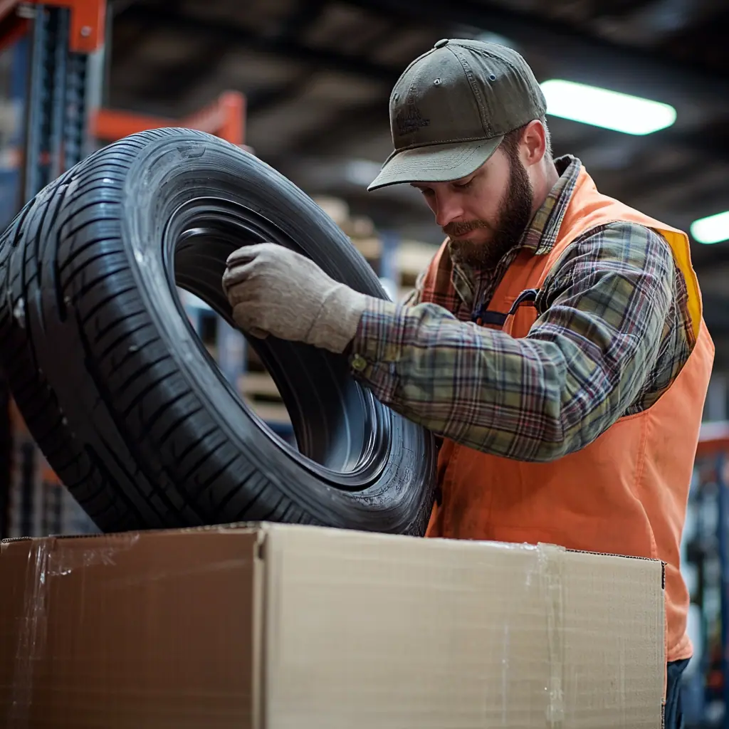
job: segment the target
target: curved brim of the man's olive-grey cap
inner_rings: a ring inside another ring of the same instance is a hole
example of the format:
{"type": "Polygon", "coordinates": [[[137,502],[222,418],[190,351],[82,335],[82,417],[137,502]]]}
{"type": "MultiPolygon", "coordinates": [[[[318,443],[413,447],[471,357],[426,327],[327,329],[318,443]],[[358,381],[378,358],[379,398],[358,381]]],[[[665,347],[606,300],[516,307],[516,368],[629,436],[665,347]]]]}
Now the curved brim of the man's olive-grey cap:
{"type": "Polygon", "coordinates": [[[404,182],[452,182],[473,174],[496,152],[503,135],[454,144],[403,149],[390,157],[367,190],[404,182]]]}

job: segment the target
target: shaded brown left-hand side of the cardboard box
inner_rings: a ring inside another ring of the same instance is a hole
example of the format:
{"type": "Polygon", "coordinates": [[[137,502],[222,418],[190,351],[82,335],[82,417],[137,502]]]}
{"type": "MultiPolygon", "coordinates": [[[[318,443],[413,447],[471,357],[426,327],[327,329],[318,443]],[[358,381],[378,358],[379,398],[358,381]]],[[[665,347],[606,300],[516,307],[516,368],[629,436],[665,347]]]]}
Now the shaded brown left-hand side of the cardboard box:
{"type": "Polygon", "coordinates": [[[217,529],[4,543],[7,725],[256,725],[259,537],[217,529]]]}

